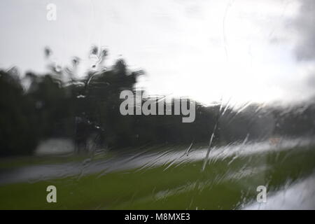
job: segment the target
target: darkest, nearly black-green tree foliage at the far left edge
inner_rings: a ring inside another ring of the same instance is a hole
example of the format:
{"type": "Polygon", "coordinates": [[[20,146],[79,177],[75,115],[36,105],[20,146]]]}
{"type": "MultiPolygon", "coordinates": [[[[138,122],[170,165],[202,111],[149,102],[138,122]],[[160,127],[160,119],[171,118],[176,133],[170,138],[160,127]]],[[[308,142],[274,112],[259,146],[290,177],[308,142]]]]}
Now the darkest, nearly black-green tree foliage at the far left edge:
{"type": "Polygon", "coordinates": [[[0,71],[0,95],[0,156],[32,153],[38,143],[38,120],[18,76],[0,71]]]}

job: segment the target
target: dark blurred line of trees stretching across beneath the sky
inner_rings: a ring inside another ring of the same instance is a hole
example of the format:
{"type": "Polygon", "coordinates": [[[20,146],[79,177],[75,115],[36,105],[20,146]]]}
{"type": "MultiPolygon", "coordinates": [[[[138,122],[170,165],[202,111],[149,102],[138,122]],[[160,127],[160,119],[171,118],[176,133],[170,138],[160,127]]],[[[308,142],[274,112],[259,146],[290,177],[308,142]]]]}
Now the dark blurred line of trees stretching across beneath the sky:
{"type": "MultiPolygon", "coordinates": [[[[45,55],[49,57],[50,50],[45,55]]],[[[214,144],[314,135],[314,100],[290,108],[247,104],[237,109],[195,102],[193,123],[182,123],[182,117],[174,114],[123,116],[120,92],[144,94],[144,90],[134,89],[144,71],[130,70],[124,59],[117,59],[109,69],[102,66],[106,50],[94,47],[92,55],[97,64],[83,78],[76,74],[78,58],[72,60],[71,68],[50,65],[45,74],[27,72],[21,77],[14,68],[0,70],[0,156],[31,155],[40,141],[50,138],[72,139],[76,152],[85,153],[91,148],[89,142],[94,148],[114,149],[207,144],[213,133],[214,144]]],[[[165,104],[174,110],[176,100],[165,104]]]]}

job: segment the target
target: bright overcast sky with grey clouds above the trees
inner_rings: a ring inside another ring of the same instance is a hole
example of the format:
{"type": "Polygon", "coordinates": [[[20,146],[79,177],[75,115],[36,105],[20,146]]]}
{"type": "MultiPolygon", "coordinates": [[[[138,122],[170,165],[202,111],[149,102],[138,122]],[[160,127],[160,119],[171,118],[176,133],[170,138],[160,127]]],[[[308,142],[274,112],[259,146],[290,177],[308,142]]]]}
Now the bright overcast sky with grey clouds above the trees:
{"type": "Polygon", "coordinates": [[[306,99],[315,90],[314,0],[1,0],[0,68],[90,65],[92,44],[148,76],[151,94],[204,103],[306,99]],[[55,3],[57,20],[46,19],[55,3]]]}

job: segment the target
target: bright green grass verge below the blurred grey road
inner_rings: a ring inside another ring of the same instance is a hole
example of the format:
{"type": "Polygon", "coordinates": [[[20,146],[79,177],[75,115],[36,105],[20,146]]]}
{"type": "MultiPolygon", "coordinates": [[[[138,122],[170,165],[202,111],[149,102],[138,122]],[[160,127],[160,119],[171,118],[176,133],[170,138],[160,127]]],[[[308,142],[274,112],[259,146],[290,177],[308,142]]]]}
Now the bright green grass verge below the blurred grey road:
{"type": "Polygon", "coordinates": [[[0,186],[0,209],[238,209],[314,172],[314,148],[0,186]],[[57,203],[46,188],[57,187],[57,203]]]}

